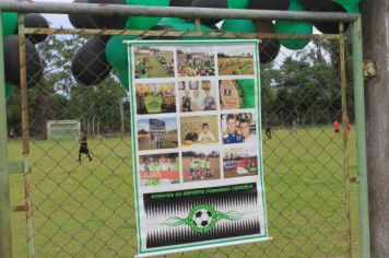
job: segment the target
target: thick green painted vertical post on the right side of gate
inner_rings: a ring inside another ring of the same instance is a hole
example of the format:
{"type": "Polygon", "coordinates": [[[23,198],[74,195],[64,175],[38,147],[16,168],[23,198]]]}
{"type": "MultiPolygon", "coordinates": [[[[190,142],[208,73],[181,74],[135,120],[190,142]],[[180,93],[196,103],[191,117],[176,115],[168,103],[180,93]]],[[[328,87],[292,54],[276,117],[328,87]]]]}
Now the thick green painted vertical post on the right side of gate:
{"type": "Polygon", "coordinates": [[[358,161],[358,199],[359,199],[359,248],[361,257],[370,257],[370,234],[368,219],[367,153],[365,125],[365,94],[363,78],[362,24],[358,17],[352,27],[353,73],[355,97],[355,127],[358,161]]]}

